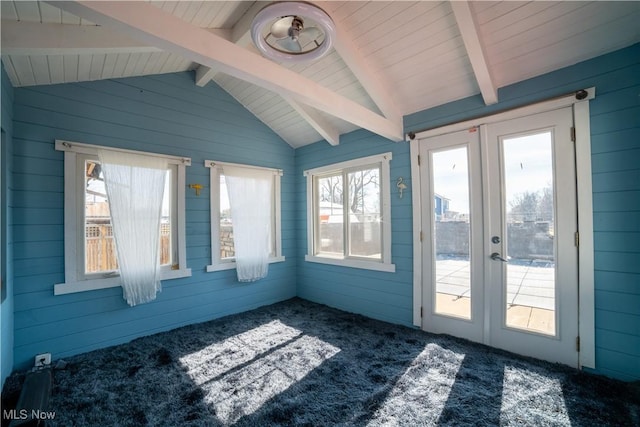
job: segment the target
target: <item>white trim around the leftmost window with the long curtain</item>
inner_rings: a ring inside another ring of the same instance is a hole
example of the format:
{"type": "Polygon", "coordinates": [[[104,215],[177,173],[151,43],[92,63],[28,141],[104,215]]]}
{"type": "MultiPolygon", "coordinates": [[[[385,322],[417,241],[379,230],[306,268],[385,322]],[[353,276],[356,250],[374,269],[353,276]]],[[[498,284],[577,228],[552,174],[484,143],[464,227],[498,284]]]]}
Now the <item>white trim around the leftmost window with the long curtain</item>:
{"type": "Polygon", "coordinates": [[[55,149],[64,151],[64,270],[65,282],[54,285],[54,295],[64,295],[75,292],[92,291],[97,289],[115,288],[122,285],[119,276],[89,278],[83,280],[78,275],[78,223],[81,220],[78,215],[78,194],[76,186],[77,155],[98,155],[98,149],[107,149],[125,153],[155,156],[167,159],[169,164],[178,166],[177,180],[177,227],[178,227],[178,268],[163,270],[160,280],[177,279],[191,276],[191,269],[187,268],[187,250],[185,234],[185,186],[186,166],[191,165],[191,159],[187,157],[169,156],[164,154],[148,153],[144,151],[125,150],[120,148],[102,147],[98,145],[82,144],[79,142],[56,140],[55,149]]]}

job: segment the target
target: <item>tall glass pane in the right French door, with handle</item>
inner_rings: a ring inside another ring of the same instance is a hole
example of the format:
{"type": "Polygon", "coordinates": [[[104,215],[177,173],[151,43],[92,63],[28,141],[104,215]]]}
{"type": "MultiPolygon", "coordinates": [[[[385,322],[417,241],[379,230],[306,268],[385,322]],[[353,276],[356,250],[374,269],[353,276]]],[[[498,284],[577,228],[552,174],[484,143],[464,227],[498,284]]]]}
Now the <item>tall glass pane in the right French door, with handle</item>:
{"type": "Polygon", "coordinates": [[[552,133],[502,140],[509,327],[555,335],[552,133]]]}

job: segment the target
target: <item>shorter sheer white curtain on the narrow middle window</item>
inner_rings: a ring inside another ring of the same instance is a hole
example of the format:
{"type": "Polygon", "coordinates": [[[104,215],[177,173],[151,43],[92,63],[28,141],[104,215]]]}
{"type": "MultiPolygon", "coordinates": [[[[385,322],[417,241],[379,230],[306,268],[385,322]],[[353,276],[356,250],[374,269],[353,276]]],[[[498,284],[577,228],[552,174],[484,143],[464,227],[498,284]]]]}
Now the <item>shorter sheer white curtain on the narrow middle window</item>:
{"type": "Polygon", "coordinates": [[[267,276],[271,252],[273,171],[223,166],[229,193],[238,281],[267,276]]]}

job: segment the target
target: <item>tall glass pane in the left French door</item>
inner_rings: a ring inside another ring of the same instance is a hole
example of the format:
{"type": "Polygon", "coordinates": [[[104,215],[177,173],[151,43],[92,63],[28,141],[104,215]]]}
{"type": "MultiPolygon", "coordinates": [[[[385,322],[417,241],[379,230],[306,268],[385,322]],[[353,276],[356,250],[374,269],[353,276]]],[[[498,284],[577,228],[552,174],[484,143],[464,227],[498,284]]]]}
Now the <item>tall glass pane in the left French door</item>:
{"type": "Polygon", "coordinates": [[[431,155],[435,312],[471,318],[469,167],[467,147],[431,155]]]}

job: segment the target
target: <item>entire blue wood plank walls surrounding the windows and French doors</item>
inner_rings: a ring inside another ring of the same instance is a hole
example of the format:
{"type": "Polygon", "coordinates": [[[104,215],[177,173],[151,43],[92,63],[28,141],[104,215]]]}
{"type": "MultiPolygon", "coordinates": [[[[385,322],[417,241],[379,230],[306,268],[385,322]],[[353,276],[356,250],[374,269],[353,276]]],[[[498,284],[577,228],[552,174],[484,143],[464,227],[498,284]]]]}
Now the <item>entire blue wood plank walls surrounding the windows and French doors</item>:
{"type": "MultiPolygon", "coordinates": [[[[595,86],[591,102],[596,279],[596,372],[640,379],[640,45],[503,88],[501,102],[479,96],[405,117],[405,128],[436,127],[595,86]]],[[[33,355],[54,358],[129,341],[294,295],[405,325],[412,309],[410,193],[392,186],[392,260],[395,273],[304,261],[306,184],[302,171],[393,152],[391,183],[411,187],[409,148],[367,131],[331,147],[295,150],[213,84],[198,88],[189,73],[12,89],[2,73],[2,126],[7,126],[3,181],[5,237],[14,296],[2,305],[2,378],[33,355]],[[11,95],[15,101],[11,102],[11,95]],[[8,118],[13,113],[13,126],[8,118]],[[8,122],[7,122],[8,120],[8,122]],[[128,307],[119,289],[53,296],[64,280],[63,161],[54,139],[192,157],[187,182],[208,183],[202,161],[216,158],[283,168],[283,248],[287,261],[270,276],[239,285],[232,271],[205,273],[209,263],[209,198],[187,193],[187,257],[193,277],[167,281],[158,299],[128,307]],[[5,172],[6,171],[6,172],[5,172]],[[11,220],[11,215],[15,218],[11,220]],[[13,234],[12,234],[13,233],[13,234]],[[297,288],[296,288],[297,285],[297,288]],[[15,310],[10,309],[13,304],[15,310]],[[13,312],[15,311],[15,314],[13,312]],[[6,322],[6,323],[5,323],[6,322]],[[14,333],[5,325],[15,324],[14,333]],[[11,341],[14,341],[11,344],[11,341]],[[9,349],[9,350],[8,350],[9,349]],[[9,356],[6,356],[9,354],[9,356]]],[[[6,129],[5,129],[6,130],[6,129]]],[[[9,293],[11,294],[11,293],[9,293]]]]}

